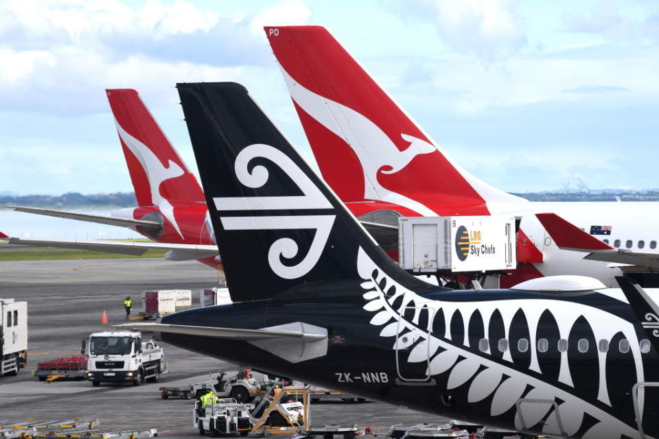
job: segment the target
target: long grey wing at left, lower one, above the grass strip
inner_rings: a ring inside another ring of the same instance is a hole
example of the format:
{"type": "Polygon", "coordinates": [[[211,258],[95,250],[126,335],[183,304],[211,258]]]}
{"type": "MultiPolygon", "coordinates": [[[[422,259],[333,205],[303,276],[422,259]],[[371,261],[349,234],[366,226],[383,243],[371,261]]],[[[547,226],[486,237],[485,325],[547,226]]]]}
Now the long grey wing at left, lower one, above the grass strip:
{"type": "Polygon", "coordinates": [[[217,246],[165,244],[153,241],[65,241],[58,239],[12,238],[4,234],[0,234],[0,240],[7,241],[8,244],[14,244],[17,246],[70,248],[73,250],[93,250],[97,252],[132,254],[135,256],[140,256],[148,250],[168,250],[169,252],[165,254],[165,259],[174,261],[204,259],[219,254],[217,246]]]}

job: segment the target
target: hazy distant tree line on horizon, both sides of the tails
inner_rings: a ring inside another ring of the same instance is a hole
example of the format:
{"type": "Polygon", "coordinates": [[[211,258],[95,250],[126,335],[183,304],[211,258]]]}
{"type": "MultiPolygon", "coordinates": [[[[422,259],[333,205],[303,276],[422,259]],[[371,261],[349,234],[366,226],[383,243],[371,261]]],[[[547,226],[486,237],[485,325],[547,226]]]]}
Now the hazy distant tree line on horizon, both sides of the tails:
{"type": "MultiPolygon", "coordinates": [[[[659,201],[659,191],[628,192],[529,192],[513,193],[529,201],[659,201]]],[[[64,195],[0,195],[0,206],[5,204],[34,207],[130,207],[137,206],[134,192],[91,193],[67,192],[64,195]]]]}

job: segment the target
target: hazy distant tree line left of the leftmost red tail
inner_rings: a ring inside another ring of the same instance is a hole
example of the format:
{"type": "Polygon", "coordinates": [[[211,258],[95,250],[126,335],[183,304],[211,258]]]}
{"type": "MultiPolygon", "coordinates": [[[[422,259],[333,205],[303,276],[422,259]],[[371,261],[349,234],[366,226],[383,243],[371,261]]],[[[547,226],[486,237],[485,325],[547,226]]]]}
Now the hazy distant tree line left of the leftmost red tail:
{"type": "Polygon", "coordinates": [[[137,206],[134,192],[91,193],[67,192],[63,195],[0,195],[0,205],[33,207],[130,207],[137,206]]]}

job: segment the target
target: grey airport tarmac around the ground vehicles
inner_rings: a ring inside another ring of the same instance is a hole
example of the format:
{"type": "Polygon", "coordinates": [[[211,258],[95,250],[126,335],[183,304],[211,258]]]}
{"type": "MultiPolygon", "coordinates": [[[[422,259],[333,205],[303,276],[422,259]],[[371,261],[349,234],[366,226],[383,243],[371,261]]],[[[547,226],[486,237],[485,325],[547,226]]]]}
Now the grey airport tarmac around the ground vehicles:
{"type": "MultiPolygon", "coordinates": [[[[157,428],[164,438],[198,437],[192,426],[192,402],[164,401],[159,385],[201,381],[208,372],[232,366],[174,346],[165,347],[170,372],[159,383],[92,387],[88,381],[44,383],[30,377],[39,361],[80,353],[80,340],[125,322],[122,302],[131,296],[139,311],[141,292],[149,289],[212,287],[218,272],[196,261],[163,259],[95,259],[56,261],[0,261],[0,297],[27,301],[29,366],[17,377],[0,377],[0,423],[3,421],[100,418],[102,428],[157,428]]],[[[235,370],[235,368],[234,368],[235,370]]],[[[383,403],[314,403],[312,424],[329,423],[386,429],[394,423],[441,423],[443,418],[383,403]]],[[[282,437],[288,437],[286,435],[282,437]]]]}

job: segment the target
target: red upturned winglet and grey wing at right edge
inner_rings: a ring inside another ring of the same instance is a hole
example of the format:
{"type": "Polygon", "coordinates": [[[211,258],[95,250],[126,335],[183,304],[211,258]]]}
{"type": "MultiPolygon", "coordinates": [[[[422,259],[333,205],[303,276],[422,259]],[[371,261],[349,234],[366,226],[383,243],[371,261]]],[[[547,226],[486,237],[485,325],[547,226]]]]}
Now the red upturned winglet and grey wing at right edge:
{"type": "Polygon", "coordinates": [[[590,261],[637,265],[659,270],[659,252],[613,248],[555,213],[537,213],[535,216],[562,250],[588,253],[583,259],[590,261]]]}

